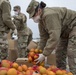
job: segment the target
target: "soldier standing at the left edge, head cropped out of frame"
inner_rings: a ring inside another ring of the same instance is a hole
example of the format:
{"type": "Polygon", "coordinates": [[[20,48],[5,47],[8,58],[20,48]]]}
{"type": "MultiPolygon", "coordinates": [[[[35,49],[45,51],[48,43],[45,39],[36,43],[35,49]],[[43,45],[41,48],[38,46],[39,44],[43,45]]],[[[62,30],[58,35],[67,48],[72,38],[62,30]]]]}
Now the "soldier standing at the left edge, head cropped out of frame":
{"type": "Polygon", "coordinates": [[[11,20],[11,5],[9,0],[0,0],[0,61],[7,59],[7,34],[10,29],[17,34],[17,29],[11,20]]]}

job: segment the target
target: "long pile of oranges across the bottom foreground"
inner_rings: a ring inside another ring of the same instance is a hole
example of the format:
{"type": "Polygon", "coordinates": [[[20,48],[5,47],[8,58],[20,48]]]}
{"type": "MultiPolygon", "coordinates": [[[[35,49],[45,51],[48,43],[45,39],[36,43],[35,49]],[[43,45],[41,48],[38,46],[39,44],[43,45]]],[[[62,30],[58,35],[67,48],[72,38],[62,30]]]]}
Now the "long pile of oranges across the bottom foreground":
{"type": "Polygon", "coordinates": [[[55,65],[48,68],[37,65],[28,67],[26,64],[18,65],[16,62],[12,62],[10,67],[5,65],[0,67],[0,75],[73,75],[71,72],[61,70],[55,65]]]}

